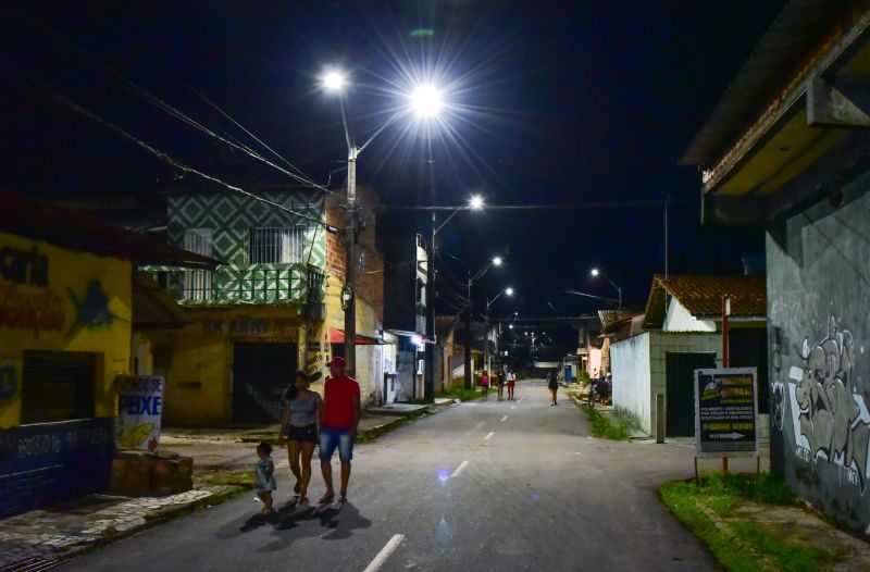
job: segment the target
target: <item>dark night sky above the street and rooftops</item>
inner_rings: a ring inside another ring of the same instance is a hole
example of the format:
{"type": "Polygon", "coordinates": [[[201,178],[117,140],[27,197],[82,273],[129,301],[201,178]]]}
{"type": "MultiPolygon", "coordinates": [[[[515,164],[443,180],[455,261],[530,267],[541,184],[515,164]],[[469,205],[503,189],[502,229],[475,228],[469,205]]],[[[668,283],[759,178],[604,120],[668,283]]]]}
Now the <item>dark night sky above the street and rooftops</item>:
{"type": "MultiPolygon", "coordinates": [[[[285,181],[163,114],[86,54],[210,128],[244,137],[187,85],[195,87],[322,183],[346,157],[337,101],[318,88],[326,66],[350,74],[358,139],[402,104],[409,82],[434,77],[449,86],[444,125],[423,133],[410,117],[398,120],[363,153],[360,182],[387,204],[459,204],[472,194],[499,204],[622,203],[460,213],[440,247],[475,265],[509,252],[507,268],[477,288],[517,288],[498,313],[552,314],[547,300],[562,314],[597,309],[560,293],[616,294],[589,279],[593,265],[643,304],[664,266],[662,209],[633,201],[671,197],[671,272],[741,272],[743,256],[762,252],[760,232],[699,225],[699,175],[676,160],[781,8],[761,0],[7,3],[0,185],[123,195],[152,192],[172,177],[23,76],[231,183],[285,181]],[[419,28],[432,35],[413,36],[419,28]]],[[[414,225],[407,211],[384,216],[385,227],[414,225]]],[[[417,226],[425,231],[425,214],[417,226]]]]}

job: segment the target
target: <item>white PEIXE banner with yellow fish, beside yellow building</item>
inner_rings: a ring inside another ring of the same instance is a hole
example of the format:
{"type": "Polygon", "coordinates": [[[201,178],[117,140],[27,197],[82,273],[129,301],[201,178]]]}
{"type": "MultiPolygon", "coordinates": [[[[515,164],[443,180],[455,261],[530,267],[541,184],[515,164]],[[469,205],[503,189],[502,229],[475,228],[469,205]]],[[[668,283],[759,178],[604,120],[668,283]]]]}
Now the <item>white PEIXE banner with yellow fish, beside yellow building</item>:
{"type": "Polygon", "coordinates": [[[163,377],[122,375],[117,378],[115,442],[119,449],[156,451],[160,445],[163,377]]]}

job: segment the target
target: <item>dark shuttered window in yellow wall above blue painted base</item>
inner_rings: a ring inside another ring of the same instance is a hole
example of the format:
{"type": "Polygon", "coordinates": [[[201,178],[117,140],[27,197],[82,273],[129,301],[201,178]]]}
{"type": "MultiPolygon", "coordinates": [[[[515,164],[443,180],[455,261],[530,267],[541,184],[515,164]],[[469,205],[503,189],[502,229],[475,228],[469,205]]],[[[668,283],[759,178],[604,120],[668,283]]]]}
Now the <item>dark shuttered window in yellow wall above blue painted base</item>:
{"type": "Polygon", "coordinates": [[[21,422],[94,418],[95,355],[25,351],[21,422]]]}

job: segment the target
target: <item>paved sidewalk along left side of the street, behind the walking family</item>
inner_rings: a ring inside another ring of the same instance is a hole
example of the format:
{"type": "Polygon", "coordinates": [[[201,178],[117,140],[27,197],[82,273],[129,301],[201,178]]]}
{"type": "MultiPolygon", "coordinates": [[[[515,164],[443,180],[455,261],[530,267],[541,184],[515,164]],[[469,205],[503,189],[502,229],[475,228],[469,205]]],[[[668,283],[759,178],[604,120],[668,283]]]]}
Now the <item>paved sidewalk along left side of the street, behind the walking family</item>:
{"type": "MultiPolygon", "coordinates": [[[[364,412],[360,442],[373,440],[411,419],[452,405],[412,406],[390,414],[364,412]]],[[[132,498],[109,494],[33,510],[0,520],[0,572],[48,570],[88,548],[200,508],[208,508],[250,489],[256,444],[277,443],[279,425],[231,428],[163,427],[161,450],[194,458],[194,489],[167,497],[132,498]]],[[[276,469],[288,470],[287,455],[273,453],[276,469]]]]}

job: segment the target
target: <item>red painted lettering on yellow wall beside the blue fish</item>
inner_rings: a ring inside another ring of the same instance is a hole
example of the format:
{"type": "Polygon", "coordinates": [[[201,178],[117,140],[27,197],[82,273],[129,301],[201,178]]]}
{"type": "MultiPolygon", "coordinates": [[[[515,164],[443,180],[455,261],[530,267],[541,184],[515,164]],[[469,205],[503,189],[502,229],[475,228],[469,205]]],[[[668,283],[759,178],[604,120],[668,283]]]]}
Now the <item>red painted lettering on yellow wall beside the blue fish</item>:
{"type": "Polygon", "coordinates": [[[50,290],[22,291],[17,284],[0,284],[0,327],[61,331],[66,323],[63,299],[50,290]]]}

